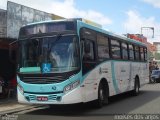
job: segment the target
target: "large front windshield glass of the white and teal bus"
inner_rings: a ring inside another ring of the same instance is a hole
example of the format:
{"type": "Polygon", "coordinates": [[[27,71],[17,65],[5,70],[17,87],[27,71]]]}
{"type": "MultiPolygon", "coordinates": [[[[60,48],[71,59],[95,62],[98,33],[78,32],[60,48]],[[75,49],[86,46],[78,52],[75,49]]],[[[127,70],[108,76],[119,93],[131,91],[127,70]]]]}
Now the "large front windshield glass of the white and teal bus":
{"type": "Polygon", "coordinates": [[[80,67],[78,39],[75,35],[20,40],[20,68],[49,63],[48,72],[67,72],[80,67]]]}

